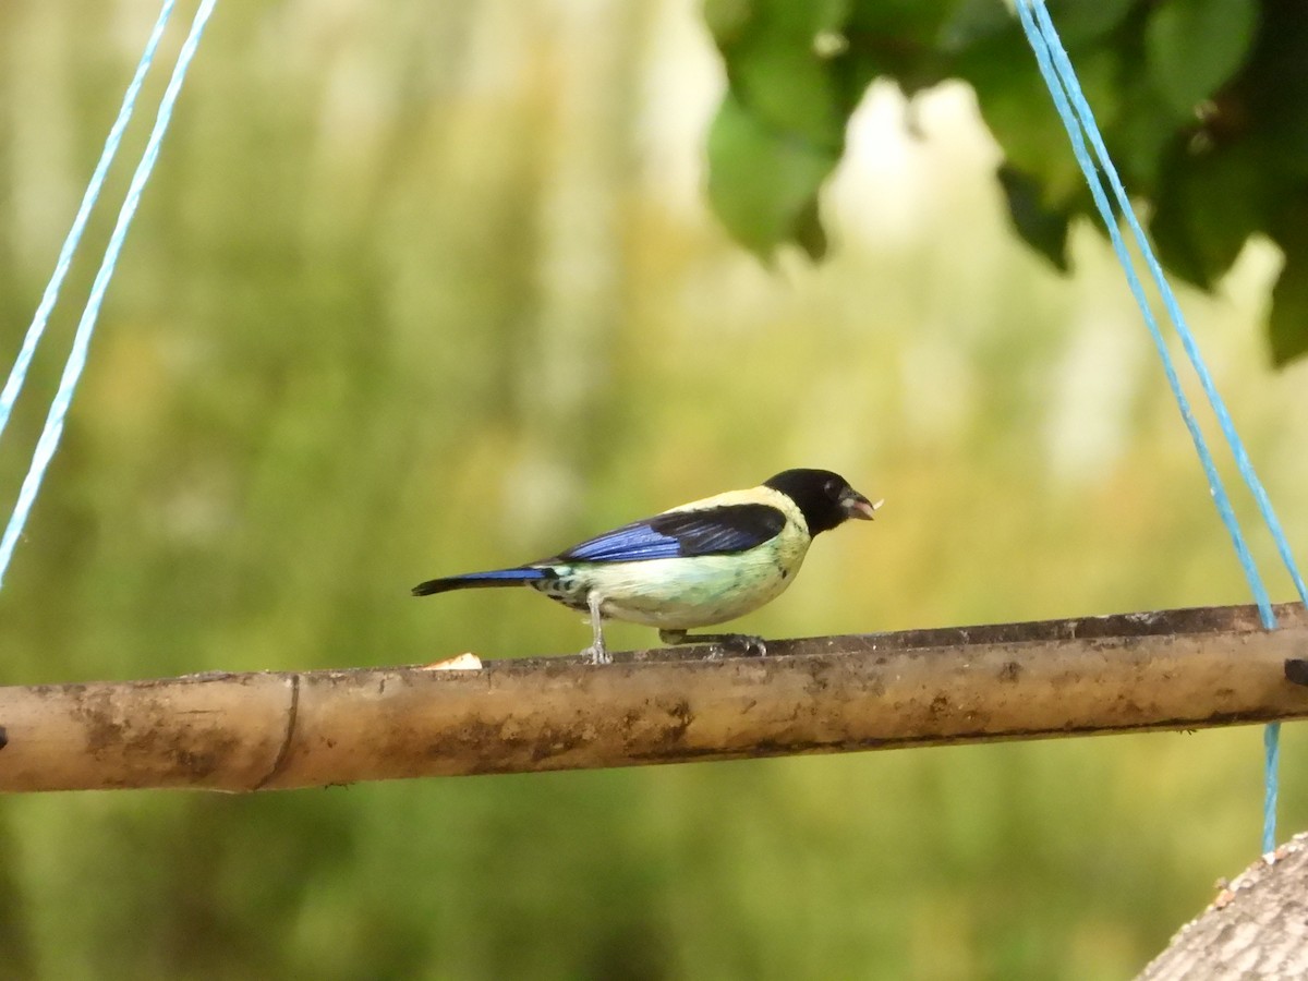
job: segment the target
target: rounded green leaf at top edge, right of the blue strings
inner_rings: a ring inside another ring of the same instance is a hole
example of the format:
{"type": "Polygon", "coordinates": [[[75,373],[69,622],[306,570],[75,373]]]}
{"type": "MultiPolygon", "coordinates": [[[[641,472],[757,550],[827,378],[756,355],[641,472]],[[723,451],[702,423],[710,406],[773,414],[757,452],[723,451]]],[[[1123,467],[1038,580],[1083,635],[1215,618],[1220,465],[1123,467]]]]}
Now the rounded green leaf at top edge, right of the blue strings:
{"type": "Polygon", "coordinates": [[[1244,63],[1258,27],[1257,0],[1169,0],[1144,31],[1150,77],[1179,116],[1213,95],[1244,63]]]}

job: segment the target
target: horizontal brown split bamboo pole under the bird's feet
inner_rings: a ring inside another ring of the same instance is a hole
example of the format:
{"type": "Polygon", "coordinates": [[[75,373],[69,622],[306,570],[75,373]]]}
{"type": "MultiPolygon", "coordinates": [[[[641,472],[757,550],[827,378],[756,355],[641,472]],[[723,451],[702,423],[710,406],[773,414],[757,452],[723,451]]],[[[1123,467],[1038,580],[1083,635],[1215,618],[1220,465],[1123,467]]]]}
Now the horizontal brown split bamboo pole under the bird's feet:
{"type": "Polygon", "coordinates": [[[1126,613],[419,667],[0,688],[0,791],[262,790],[1308,717],[1308,615],[1126,613]]]}

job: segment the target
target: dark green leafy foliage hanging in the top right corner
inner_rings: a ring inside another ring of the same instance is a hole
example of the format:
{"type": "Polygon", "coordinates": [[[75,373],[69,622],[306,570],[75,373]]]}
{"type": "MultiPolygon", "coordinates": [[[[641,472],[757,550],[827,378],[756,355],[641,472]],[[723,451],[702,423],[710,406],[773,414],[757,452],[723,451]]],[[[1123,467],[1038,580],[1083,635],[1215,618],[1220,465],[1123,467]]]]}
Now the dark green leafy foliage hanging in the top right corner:
{"type": "MultiPolygon", "coordinates": [[[[1252,235],[1286,266],[1271,360],[1308,352],[1308,20],[1295,0],[1050,0],[1127,190],[1167,269],[1205,289],[1252,235]]],[[[729,88],[709,137],[723,225],[770,256],[827,251],[818,195],[867,85],[974,90],[1005,160],[1014,229],[1067,269],[1071,221],[1100,218],[1035,59],[1003,0],[706,0],[729,88]]]]}

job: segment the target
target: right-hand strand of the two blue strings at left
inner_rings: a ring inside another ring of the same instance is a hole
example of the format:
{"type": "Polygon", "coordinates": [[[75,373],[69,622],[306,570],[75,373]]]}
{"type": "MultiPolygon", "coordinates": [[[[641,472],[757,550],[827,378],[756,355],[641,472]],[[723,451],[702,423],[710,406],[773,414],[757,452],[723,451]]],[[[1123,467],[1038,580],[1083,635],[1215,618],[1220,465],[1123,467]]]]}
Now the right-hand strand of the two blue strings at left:
{"type": "Polygon", "coordinates": [[[59,446],[59,437],[64,429],[64,419],[68,416],[73,391],[77,388],[77,381],[86,366],[86,349],[90,345],[90,336],[95,330],[95,319],[99,317],[105,290],[114,276],[114,267],[118,263],[119,252],[122,252],[123,239],[127,237],[132,217],[136,215],[136,205],[140,203],[141,191],[150,178],[154,161],[158,160],[160,143],[164,140],[164,133],[173,119],[173,106],[182,92],[186,71],[191,65],[191,59],[195,58],[195,50],[200,43],[204,26],[208,24],[216,3],[217,0],[201,0],[199,9],[195,12],[195,20],[191,22],[191,33],[187,34],[186,42],[182,44],[177,65],[173,68],[173,77],[169,78],[167,89],[164,92],[158,112],[154,116],[154,128],[150,131],[141,161],[136,165],[136,173],[132,174],[132,183],[127,188],[127,199],[118,213],[118,224],[114,226],[114,234],[109,239],[105,259],[101,263],[99,272],[95,275],[95,281],[92,285],[90,297],[86,300],[86,307],[82,310],[81,320],[77,323],[77,334],[73,336],[73,347],[68,354],[68,361],[64,364],[64,373],[59,379],[59,390],[55,392],[50,413],[46,416],[44,429],[42,429],[41,438],[37,441],[37,450],[31,456],[27,476],[24,477],[22,488],[18,490],[18,502],[9,517],[4,538],[0,539],[0,585],[4,583],[4,574],[9,569],[9,561],[13,559],[13,549],[18,543],[20,535],[22,535],[27,515],[31,513],[33,504],[35,504],[37,493],[41,490],[41,481],[46,475],[46,468],[50,466],[50,460],[59,446]]]}

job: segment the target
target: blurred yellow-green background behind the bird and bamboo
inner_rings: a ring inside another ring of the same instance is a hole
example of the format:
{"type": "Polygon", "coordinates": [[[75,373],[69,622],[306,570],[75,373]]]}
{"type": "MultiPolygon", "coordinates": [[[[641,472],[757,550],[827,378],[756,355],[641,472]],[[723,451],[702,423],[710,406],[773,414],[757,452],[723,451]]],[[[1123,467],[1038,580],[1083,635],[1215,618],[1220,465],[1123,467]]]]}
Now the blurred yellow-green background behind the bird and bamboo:
{"type": "MultiPolygon", "coordinates": [[[[0,5],[5,364],[156,13],[0,5]]],[[[704,203],[723,78],[698,16],[220,4],[0,593],[0,681],[574,651],[587,629],[538,598],[408,587],[790,466],[887,505],[744,629],[1247,602],[1108,249],[1078,229],[1063,279],[1015,241],[971,93],[909,112],[874,86],[824,199],[833,258],[764,268],[704,203]]],[[[0,446],[7,502],[115,208],[0,446]]],[[[1303,548],[1308,366],[1273,374],[1262,340],[1278,266],[1253,242],[1181,296],[1303,548]]],[[[1282,837],[1308,827],[1308,739],[1284,742],[1282,837]]],[[[0,977],[1118,978],[1260,820],[1257,729],[9,797],[0,977]]]]}

